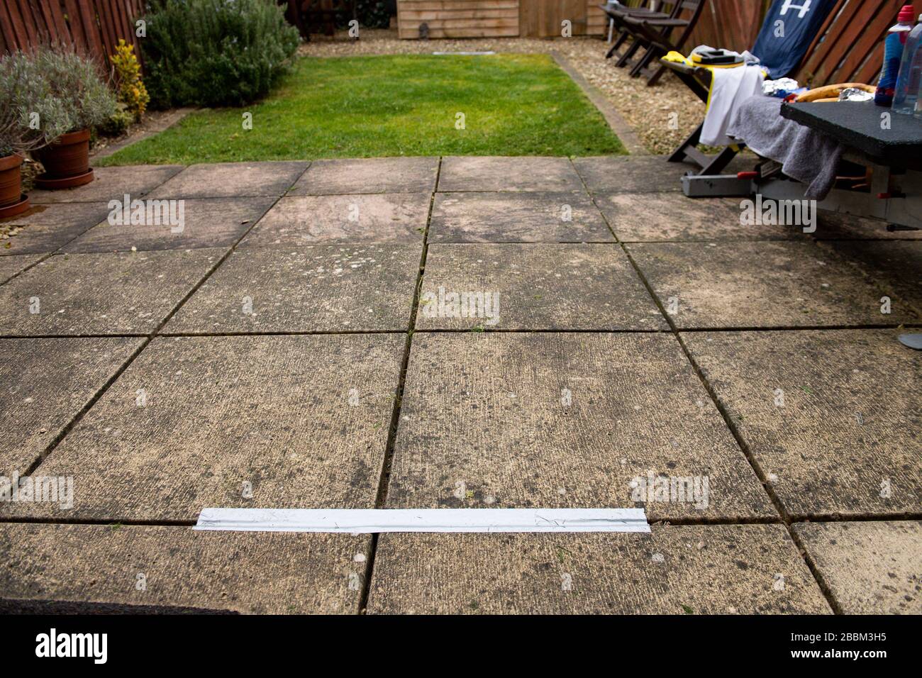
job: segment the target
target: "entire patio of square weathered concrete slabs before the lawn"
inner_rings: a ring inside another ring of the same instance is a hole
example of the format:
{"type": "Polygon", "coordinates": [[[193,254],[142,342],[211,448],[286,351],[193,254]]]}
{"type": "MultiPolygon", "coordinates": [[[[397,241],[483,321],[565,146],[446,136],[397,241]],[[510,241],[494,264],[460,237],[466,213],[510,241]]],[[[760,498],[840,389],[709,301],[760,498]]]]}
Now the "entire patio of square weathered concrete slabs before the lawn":
{"type": "Polygon", "coordinates": [[[680,196],[688,169],[242,162],[33,194],[0,224],[25,224],[0,475],[71,477],[74,506],[0,501],[0,611],[920,612],[917,234],[744,227],[680,196]],[[184,200],[183,232],[108,224],[125,194],[184,200]],[[653,531],[192,530],[211,506],[637,506],[653,531]]]}

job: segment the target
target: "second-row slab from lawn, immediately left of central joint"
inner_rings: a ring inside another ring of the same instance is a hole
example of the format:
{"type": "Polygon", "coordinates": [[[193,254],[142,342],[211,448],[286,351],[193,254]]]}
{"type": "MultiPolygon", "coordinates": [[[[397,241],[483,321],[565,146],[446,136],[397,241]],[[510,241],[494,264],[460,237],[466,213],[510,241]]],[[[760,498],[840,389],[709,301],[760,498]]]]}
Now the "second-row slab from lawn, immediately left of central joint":
{"type": "Polygon", "coordinates": [[[281,198],[242,245],[418,243],[429,193],[281,198]]]}

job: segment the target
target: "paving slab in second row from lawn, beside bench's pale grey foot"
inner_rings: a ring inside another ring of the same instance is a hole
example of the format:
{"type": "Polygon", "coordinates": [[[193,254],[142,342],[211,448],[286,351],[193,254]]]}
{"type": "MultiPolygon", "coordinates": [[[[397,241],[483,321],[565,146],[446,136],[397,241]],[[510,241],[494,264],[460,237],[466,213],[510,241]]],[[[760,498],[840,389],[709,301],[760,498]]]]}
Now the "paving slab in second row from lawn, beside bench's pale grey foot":
{"type": "Polygon", "coordinates": [[[596,196],[596,204],[623,243],[786,240],[806,237],[799,227],[743,225],[739,198],[691,199],[663,193],[596,196]]]}

